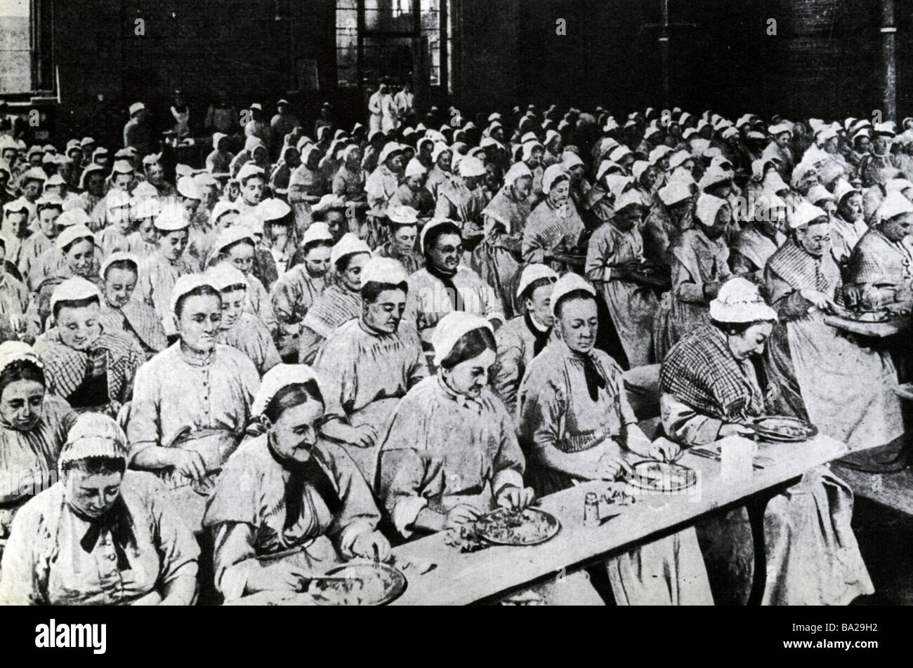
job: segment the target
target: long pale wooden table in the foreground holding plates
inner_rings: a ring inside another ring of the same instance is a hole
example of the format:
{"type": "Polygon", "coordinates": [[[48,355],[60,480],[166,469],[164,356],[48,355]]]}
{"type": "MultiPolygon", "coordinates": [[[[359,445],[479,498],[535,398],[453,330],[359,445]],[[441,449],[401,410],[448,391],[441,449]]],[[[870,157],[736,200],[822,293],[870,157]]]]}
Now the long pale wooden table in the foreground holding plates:
{"type": "Polygon", "coordinates": [[[728,480],[721,464],[686,453],[680,464],[698,472],[698,484],[677,495],[636,492],[630,506],[601,504],[599,527],[583,526],[583,497],[599,496],[610,484],[592,482],[540,499],[540,507],[561,521],[561,531],[550,541],[531,547],[492,547],[460,553],[435,534],[394,548],[408,586],[394,605],[465,605],[514,590],[534,580],[557,576],[603,555],[632,548],[651,536],[685,525],[721,506],[777,485],[782,485],[815,466],[833,461],[847,448],[827,436],[801,444],[760,444],[756,462],[764,466],[749,479],[728,480]],[[614,515],[611,515],[611,514],[614,515]],[[421,569],[435,564],[420,574],[421,569]]]}

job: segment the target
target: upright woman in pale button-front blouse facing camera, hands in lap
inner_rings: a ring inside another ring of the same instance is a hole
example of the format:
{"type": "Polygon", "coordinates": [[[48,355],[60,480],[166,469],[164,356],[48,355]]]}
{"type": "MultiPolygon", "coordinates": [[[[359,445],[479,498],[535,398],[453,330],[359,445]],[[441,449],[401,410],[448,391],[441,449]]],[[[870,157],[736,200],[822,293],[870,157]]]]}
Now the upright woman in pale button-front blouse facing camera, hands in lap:
{"type": "Polygon", "coordinates": [[[127,435],[131,467],[176,488],[225,464],[244,433],[259,376],[243,352],[217,342],[222,295],[203,277],[180,277],[171,306],[179,340],[137,371],[127,435]]]}

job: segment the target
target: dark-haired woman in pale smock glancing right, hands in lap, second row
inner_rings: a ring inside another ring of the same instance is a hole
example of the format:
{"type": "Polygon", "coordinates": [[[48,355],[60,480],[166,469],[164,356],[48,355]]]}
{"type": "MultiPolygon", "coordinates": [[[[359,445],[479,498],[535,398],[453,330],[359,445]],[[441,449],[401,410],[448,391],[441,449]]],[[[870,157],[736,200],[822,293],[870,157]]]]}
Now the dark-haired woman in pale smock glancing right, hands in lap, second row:
{"type": "Polygon", "coordinates": [[[428,374],[415,330],[400,329],[406,278],[396,260],[370,259],[362,271],[361,318],[333,331],[314,360],[326,386],[323,433],[344,444],[367,480],[394,407],[428,374]]]}

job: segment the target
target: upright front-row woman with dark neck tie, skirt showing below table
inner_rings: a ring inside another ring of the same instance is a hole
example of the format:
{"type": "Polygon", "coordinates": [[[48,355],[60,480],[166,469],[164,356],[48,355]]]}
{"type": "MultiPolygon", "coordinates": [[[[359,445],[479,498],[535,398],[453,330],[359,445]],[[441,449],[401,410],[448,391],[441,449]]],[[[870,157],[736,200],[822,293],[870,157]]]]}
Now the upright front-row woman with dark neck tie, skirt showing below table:
{"type": "MultiPolygon", "coordinates": [[[[519,389],[519,439],[527,479],[540,496],[588,480],[614,480],[625,453],[673,459],[678,447],[651,444],[637,426],[622,371],[593,346],[593,287],[575,274],[558,279],[551,309],[558,340],[530,362],[519,389]]],[[[615,600],[629,605],[712,604],[693,528],[605,562],[615,600]]]]}

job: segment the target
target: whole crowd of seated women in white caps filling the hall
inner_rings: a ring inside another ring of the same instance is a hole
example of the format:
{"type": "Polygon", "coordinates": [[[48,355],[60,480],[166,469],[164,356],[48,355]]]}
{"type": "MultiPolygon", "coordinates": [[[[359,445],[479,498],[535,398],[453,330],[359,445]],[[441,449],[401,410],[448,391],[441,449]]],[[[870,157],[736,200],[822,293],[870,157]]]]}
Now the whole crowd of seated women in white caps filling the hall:
{"type": "MultiPolygon", "coordinates": [[[[0,137],[0,602],[300,590],[764,414],[903,433],[904,351],[824,318],[913,301],[913,119],[446,118],[205,168],[0,137]]],[[[829,468],[760,507],[530,591],[872,592],[829,468]]]]}

